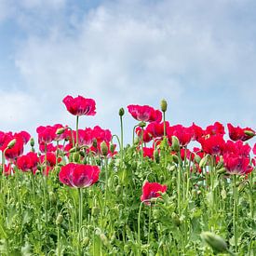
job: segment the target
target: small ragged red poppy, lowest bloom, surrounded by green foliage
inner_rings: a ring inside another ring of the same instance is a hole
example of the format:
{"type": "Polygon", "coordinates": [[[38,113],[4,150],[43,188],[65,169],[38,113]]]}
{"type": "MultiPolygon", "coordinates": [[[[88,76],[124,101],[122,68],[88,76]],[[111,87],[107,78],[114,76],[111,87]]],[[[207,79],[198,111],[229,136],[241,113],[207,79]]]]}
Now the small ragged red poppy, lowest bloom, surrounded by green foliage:
{"type": "Polygon", "coordinates": [[[145,204],[150,205],[147,200],[161,196],[161,193],[165,193],[167,189],[167,185],[161,185],[157,182],[145,182],[142,187],[141,202],[145,201],[145,204]]]}

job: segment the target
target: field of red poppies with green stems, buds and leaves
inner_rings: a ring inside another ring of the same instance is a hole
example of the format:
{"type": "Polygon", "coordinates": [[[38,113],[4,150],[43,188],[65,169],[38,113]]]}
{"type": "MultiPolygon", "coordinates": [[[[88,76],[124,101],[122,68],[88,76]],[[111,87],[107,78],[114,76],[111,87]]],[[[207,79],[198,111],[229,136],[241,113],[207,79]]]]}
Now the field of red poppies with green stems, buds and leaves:
{"type": "Polygon", "coordinates": [[[255,128],[175,125],[162,100],[112,134],[79,125],[93,99],[62,103],[74,128],[0,130],[0,255],[256,255],[255,128]]]}

